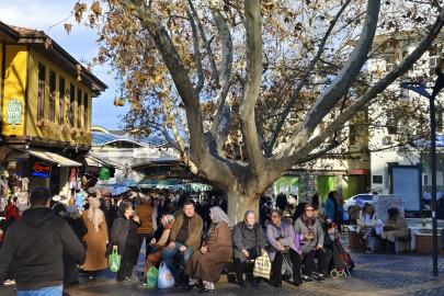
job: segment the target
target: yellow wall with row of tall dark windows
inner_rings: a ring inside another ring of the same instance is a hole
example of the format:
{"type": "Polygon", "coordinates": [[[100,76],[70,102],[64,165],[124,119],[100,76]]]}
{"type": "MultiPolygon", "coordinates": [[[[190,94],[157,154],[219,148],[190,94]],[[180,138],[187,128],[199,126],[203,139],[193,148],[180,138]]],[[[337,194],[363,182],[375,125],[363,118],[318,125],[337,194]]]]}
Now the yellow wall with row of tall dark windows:
{"type": "MultiPolygon", "coordinates": [[[[41,54],[38,54],[36,50],[31,48],[31,57],[30,57],[30,90],[29,90],[29,113],[27,113],[27,127],[26,127],[26,134],[29,136],[37,136],[37,137],[43,137],[42,134],[42,128],[38,127],[37,124],[37,96],[38,96],[38,62],[43,64],[46,66],[46,77],[45,77],[45,83],[46,83],[46,89],[45,89],[45,115],[44,118],[48,119],[49,117],[49,70],[53,70],[56,72],[56,112],[55,112],[55,122],[58,124],[58,116],[59,116],[59,78],[60,76],[65,78],[65,89],[70,88],[70,83],[73,83],[76,86],[76,101],[75,101],[75,126],[77,126],[77,116],[78,116],[78,110],[77,110],[77,90],[78,88],[81,88],[82,90],[82,98],[81,102],[82,105],[84,105],[83,102],[83,95],[84,91],[88,92],[88,100],[89,100],[89,114],[88,114],[88,123],[89,126],[87,128],[83,127],[83,116],[84,112],[81,113],[82,116],[82,127],[81,129],[86,132],[90,132],[91,129],[91,89],[87,88],[83,83],[77,82],[77,77],[72,77],[68,75],[65,70],[62,70],[60,67],[56,66],[55,64],[50,62],[47,58],[43,57],[41,54]]],[[[65,111],[67,110],[67,106],[65,106],[65,111]]],[[[82,109],[83,110],[83,109],[82,109]]],[[[67,123],[67,121],[65,121],[67,123]]]]}

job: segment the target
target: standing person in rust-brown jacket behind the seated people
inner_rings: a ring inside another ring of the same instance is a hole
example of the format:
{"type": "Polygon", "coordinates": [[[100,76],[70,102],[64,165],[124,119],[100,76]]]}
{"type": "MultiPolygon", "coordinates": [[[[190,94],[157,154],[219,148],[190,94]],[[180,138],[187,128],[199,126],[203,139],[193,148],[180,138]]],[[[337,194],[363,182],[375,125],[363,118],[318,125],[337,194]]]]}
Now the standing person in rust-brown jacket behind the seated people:
{"type": "MultiPolygon", "coordinates": [[[[141,244],[148,247],[148,243],[152,239],[152,213],[155,209],[151,206],[149,196],[145,196],[141,205],[136,207],[136,214],[140,219],[141,226],[137,229],[137,253],[140,253],[141,244]]],[[[145,260],[147,260],[148,253],[145,254],[145,260]]]]}

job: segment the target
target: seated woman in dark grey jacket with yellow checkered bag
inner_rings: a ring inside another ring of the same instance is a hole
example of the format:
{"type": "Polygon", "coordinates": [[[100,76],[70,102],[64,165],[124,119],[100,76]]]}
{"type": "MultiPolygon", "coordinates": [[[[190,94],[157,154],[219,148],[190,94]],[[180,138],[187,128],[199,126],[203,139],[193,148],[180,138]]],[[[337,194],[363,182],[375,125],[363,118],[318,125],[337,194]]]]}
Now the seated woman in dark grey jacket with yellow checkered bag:
{"type": "Polygon", "coordinates": [[[265,252],[265,236],[253,210],[247,210],[243,221],[236,225],[234,243],[236,277],[239,285],[244,287],[247,282],[243,281],[243,263],[247,259],[255,259],[265,252]]]}

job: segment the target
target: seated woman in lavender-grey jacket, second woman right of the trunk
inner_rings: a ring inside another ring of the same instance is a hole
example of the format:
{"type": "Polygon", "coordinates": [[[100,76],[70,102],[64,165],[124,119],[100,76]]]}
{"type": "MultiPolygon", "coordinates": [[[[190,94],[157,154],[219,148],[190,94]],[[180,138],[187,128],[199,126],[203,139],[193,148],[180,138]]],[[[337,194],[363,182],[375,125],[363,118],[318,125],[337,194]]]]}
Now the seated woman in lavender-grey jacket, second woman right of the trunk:
{"type": "MultiPolygon", "coordinates": [[[[273,263],[273,284],[282,286],[281,270],[284,253],[289,252],[293,262],[293,284],[300,286],[300,255],[295,246],[295,231],[292,224],[286,223],[281,209],[271,212],[272,223],[266,227],[266,238],[270,242],[269,257],[273,263]]],[[[259,283],[259,280],[257,282],[259,283]]]]}

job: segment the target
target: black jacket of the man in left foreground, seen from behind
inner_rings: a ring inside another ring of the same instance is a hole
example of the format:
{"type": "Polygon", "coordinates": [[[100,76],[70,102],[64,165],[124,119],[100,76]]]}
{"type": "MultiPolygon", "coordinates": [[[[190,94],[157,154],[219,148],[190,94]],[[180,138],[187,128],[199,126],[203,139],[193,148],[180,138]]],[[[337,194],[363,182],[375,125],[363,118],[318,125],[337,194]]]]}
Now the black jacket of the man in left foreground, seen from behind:
{"type": "Polygon", "coordinates": [[[37,207],[23,212],[13,223],[0,249],[0,281],[15,263],[15,283],[20,291],[35,291],[64,284],[61,251],[83,264],[87,253],[71,227],[50,208],[37,207]]]}

